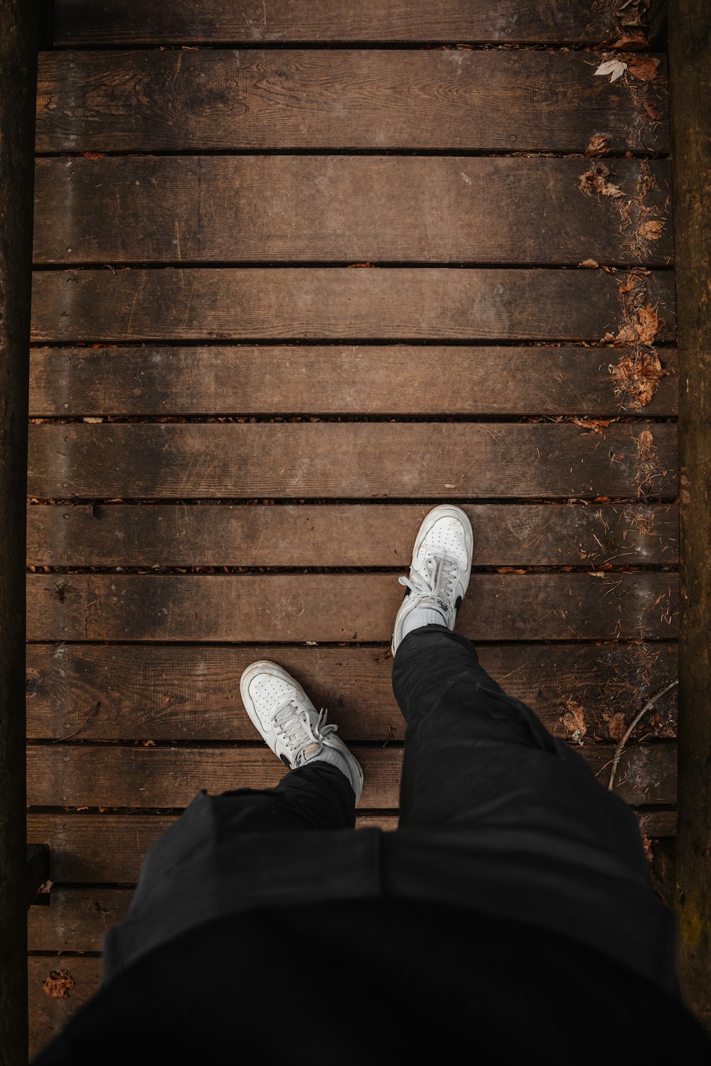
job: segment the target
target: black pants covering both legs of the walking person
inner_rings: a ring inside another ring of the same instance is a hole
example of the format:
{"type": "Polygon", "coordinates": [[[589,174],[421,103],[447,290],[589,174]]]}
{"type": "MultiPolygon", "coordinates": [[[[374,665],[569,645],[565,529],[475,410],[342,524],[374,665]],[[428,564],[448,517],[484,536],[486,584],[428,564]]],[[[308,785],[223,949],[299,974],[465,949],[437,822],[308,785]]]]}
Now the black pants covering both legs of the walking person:
{"type": "Polygon", "coordinates": [[[629,807],[445,627],[405,637],[392,684],[407,723],[398,830],[352,831],[355,794],[327,763],[274,789],[203,790],[149,850],[104,938],[104,982],[221,915],[388,895],[528,921],[676,991],[676,920],[629,807]]]}

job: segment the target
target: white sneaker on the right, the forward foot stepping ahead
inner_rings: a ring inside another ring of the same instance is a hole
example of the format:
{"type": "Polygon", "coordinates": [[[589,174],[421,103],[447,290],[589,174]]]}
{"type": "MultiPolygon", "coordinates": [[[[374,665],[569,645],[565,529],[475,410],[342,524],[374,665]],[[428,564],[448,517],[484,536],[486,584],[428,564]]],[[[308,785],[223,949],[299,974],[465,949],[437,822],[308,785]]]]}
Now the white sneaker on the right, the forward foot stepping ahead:
{"type": "Polygon", "coordinates": [[[393,656],[403,639],[405,618],[417,608],[439,611],[445,625],[454,629],[469,584],[473,545],[471,522],[464,511],[442,504],[430,512],[415,540],[409,577],[398,579],[407,592],[395,617],[393,656]]]}

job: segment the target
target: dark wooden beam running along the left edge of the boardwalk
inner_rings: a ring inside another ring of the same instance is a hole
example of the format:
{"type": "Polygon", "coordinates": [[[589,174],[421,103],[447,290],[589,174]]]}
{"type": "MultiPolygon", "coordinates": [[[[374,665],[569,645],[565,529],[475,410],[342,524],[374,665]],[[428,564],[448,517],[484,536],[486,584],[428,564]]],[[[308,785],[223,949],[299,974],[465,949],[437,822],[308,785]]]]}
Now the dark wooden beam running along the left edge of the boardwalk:
{"type": "Polygon", "coordinates": [[[28,1061],[25,532],[35,3],[0,4],[0,1057],[28,1061]]]}

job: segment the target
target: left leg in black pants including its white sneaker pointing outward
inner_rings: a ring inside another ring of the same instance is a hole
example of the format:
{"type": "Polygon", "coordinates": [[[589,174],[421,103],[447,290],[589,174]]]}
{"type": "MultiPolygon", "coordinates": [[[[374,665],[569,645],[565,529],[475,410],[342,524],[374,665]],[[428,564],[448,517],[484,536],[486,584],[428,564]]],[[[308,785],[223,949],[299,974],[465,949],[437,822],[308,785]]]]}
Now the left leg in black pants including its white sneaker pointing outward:
{"type": "Polygon", "coordinates": [[[272,789],[197,793],[148,850],[128,915],[104,937],[104,983],[146,951],[222,914],[269,900],[308,902],[329,886],[357,894],[373,879],[373,841],[358,834],[356,846],[349,844],[362,772],[336,726],[275,663],[247,667],[241,691],[289,773],[272,789]]]}

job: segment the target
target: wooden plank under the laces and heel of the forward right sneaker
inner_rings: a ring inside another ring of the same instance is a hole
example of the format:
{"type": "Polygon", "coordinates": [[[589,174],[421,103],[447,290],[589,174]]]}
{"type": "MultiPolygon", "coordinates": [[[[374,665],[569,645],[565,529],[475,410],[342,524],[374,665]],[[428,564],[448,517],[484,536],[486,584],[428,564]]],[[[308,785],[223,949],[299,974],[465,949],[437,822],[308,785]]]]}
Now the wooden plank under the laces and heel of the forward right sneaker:
{"type": "MultiPolygon", "coordinates": [[[[30,641],[389,642],[402,596],[397,577],[381,574],[29,575],[27,632],[30,641]]],[[[669,640],[677,615],[668,571],[473,574],[458,627],[472,641],[669,640]]]]}

